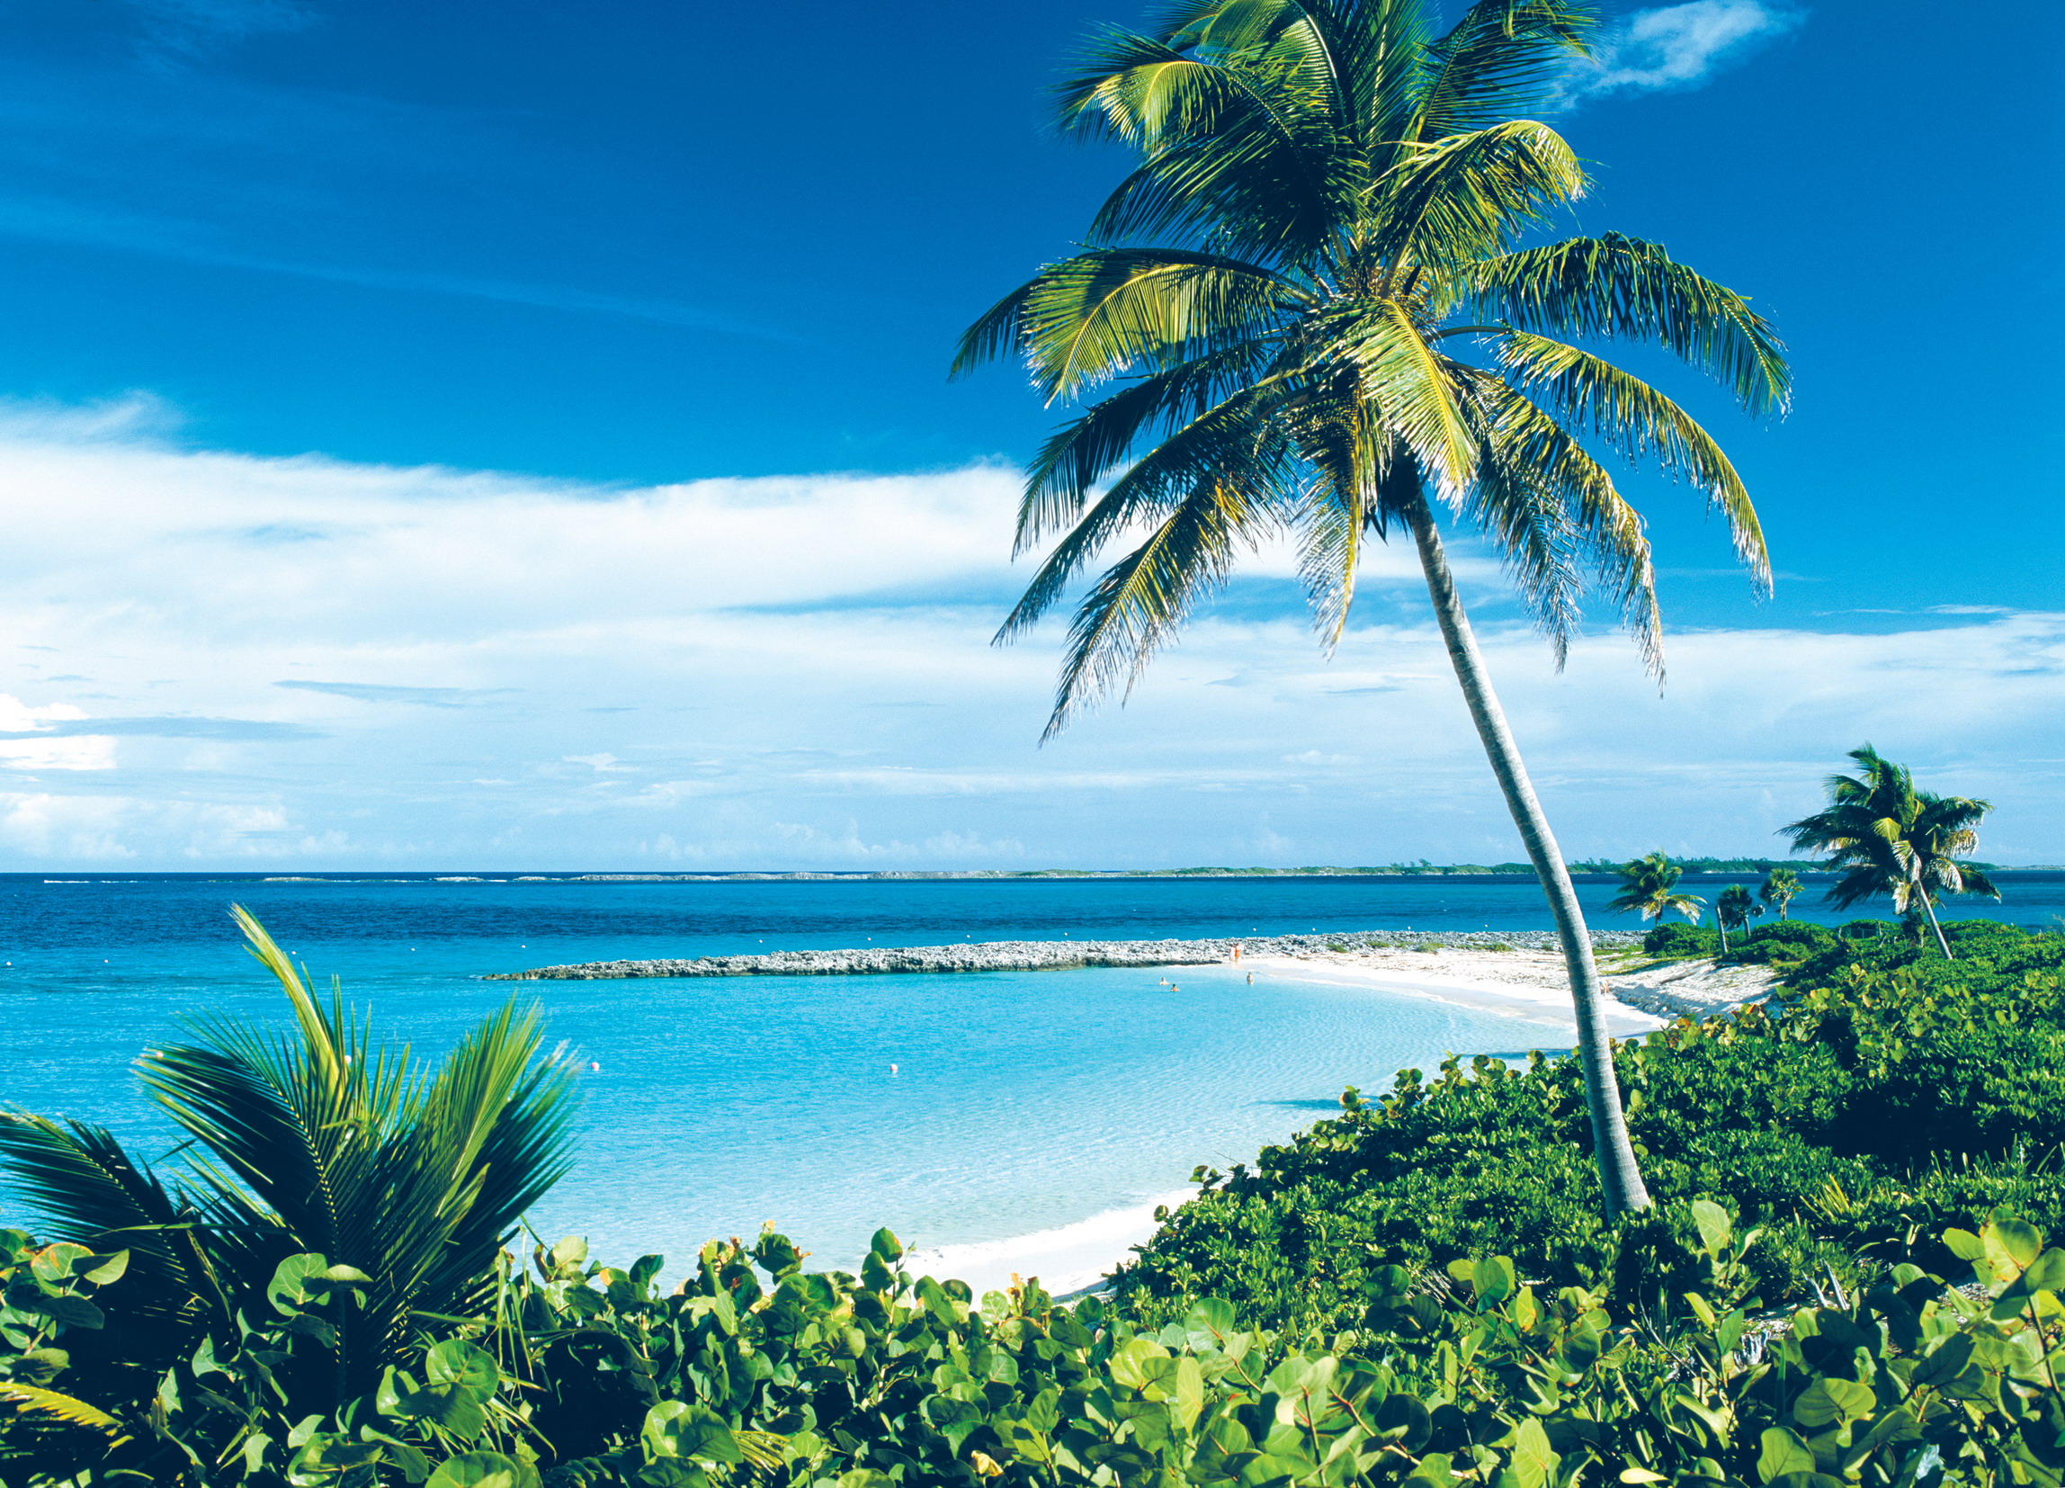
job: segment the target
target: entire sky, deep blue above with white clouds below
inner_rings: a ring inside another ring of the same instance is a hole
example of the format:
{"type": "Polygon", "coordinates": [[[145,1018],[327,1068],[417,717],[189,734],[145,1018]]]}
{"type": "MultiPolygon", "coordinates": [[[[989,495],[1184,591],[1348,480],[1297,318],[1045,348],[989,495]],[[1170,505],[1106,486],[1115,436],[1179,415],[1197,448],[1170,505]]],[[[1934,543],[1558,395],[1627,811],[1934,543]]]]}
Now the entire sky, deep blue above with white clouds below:
{"type": "MultiPolygon", "coordinates": [[[[1402,554],[1332,663],[1266,558],[1045,750],[1051,639],[981,645],[1047,413],[944,364],[1115,176],[1041,126],[1105,19],[0,12],[0,864],[1514,856],[1402,554]]],[[[1580,225],[1755,296],[1799,407],[1671,382],[1780,585],[1633,482],[1662,701],[1611,634],[1555,678],[1472,568],[1565,845],[1764,851],[1869,736],[2065,858],[2059,10],[1615,23],[1580,225]]]]}

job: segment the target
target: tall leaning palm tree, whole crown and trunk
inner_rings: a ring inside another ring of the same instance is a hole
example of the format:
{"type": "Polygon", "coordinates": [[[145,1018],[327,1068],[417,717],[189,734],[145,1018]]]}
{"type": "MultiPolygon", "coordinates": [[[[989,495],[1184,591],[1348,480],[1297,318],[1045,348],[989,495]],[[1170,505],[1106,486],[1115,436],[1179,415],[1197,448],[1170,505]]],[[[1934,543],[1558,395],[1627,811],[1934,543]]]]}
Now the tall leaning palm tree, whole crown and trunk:
{"type": "Polygon", "coordinates": [[[1592,23],[1574,0],[1481,0],[1446,33],[1423,0],[1179,0],[1150,33],[1103,33],[1059,87],[1059,122],[1138,165],[1090,246],[966,331],[956,370],[1018,353],[1049,403],[1086,403],[1028,469],[1018,548],[1059,544],[999,641],[1107,544],[1138,537],[1076,610],[1049,736],[1130,688],[1243,550],[1295,541],[1332,645],[1363,544],[1412,537],[1561,934],[1600,1182],[1621,1211],[1648,1195],[1590,934],[1437,513],[1505,558],[1559,663],[1592,568],[1660,670],[1642,519],[1586,440],[1704,492],[1759,585],[1764,535],[1706,430],[1576,341],[1662,345],[1751,411],[1784,405],[1786,368],[1741,296],[1658,244],[1524,246],[1586,176],[1555,130],[1516,114],[1586,56],[1592,23]]]}

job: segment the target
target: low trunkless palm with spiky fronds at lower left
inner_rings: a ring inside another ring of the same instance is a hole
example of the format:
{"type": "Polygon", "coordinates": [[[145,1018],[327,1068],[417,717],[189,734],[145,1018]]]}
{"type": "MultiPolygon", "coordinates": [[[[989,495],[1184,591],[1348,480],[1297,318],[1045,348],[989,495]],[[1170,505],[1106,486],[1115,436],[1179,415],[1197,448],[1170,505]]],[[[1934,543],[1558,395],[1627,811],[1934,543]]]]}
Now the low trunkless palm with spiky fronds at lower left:
{"type": "Polygon", "coordinates": [[[328,1004],[242,907],[250,951],[293,1006],[291,1035],[229,1017],[196,1042],[147,1050],[142,1083],[198,1153],[167,1184],[103,1128],[8,1112],[0,1172],[45,1238],[128,1248],[103,1294],[126,1358],[163,1368],[200,1335],[227,1352],[237,1312],[268,1316],[281,1261],[322,1254],[366,1279],[341,1314],[332,1368],[287,1378],[295,1414],[326,1414],[396,1362],[417,1314],[460,1314],[491,1281],[518,1217],[568,1168],[572,1068],[537,1058],[539,1013],[504,1004],[421,1071],[328,1004]]]}

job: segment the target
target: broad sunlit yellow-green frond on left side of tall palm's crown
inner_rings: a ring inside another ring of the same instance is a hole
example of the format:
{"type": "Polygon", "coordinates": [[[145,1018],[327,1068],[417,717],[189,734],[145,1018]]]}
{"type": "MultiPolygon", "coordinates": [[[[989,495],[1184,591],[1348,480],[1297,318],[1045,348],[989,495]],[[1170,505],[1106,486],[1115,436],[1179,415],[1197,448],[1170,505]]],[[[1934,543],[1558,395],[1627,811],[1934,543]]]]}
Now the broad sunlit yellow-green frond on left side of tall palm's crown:
{"type": "Polygon", "coordinates": [[[1268,337],[1299,300],[1284,279],[1237,258],[1092,248],[1032,281],[1020,351],[1053,403],[1130,368],[1163,370],[1268,337]]]}

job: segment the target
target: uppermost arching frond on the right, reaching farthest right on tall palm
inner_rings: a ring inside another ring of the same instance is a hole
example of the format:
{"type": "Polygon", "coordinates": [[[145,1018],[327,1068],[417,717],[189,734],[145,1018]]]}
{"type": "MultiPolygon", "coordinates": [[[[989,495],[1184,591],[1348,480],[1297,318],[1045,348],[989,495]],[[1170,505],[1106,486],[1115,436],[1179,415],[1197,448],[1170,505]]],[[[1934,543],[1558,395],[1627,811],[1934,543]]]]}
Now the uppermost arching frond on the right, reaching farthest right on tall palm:
{"type": "Polygon", "coordinates": [[[1472,265],[1466,314],[1565,337],[1654,341],[1714,376],[1749,413],[1784,413],[1792,372],[1772,324],[1733,289],[1621,234],[1569,238],[1472,265]]]}

